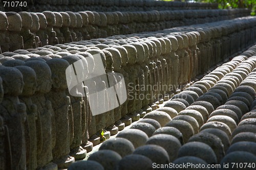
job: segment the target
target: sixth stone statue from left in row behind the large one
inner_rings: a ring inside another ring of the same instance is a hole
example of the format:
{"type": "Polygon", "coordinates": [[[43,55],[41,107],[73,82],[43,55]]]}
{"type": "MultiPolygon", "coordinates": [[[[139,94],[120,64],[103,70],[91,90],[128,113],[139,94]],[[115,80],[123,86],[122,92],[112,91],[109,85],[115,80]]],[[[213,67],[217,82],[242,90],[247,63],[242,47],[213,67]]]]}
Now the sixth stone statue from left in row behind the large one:
{"type": "Polygon", "coordinates": [[[47,20],[47,28],[46,32],[48,34],[48,41],[50,45],[58,44],[58,38],[56,37],[56,32],[53,31],[53,27],[56,23],[55,14],[51,11],[44,11],[42,12],[46,16],[47,20]]]}

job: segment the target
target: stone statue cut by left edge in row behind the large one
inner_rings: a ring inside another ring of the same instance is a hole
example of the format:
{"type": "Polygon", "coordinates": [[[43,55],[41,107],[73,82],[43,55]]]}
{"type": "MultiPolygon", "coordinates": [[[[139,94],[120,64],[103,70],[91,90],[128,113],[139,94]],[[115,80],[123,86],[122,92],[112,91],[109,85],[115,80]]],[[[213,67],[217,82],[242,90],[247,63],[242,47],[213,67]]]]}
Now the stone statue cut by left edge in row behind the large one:
{"type": "Polygon", "coordinates": [[[9,51],[9,42],[10,39],[7,34],[7,28],[8,28],[8,20],[7,16],[4,12],[0,12],[0,47],[1,47],[1,53],[8,52],[9,51]]]}

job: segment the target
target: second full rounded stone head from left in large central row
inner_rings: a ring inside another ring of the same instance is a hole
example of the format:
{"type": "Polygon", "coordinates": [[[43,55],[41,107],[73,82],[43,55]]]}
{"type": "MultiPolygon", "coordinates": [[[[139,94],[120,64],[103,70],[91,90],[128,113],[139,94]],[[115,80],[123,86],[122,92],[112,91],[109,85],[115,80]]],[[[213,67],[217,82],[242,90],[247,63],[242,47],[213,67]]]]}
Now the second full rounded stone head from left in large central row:
{"type": "Polygon", "coordinates": [[[36,73],[35,71],[28,66],[16,66],[23,75],[24,87],[22,91],[22,96],[31,96],[35,93],[36,90],[36,73]]]}

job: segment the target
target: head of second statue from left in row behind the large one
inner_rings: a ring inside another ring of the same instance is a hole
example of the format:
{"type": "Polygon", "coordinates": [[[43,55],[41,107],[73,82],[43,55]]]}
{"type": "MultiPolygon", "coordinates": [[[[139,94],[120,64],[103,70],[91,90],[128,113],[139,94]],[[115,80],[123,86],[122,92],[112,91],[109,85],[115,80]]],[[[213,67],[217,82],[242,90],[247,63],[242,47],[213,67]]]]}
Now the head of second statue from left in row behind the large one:
{"type": "Polygon", "coordinates": [[[22,17],[16,12],[6,12],[8,19],[8,31],[19,32],[22,29],[22,17]]]}

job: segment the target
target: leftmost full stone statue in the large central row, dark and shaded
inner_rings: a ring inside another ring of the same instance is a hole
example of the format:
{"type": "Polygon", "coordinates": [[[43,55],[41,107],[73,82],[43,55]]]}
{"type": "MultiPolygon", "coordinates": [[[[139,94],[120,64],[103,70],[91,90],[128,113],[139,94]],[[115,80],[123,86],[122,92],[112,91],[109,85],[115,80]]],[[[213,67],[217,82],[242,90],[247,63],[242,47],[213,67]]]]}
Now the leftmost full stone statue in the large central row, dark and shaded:
{"type": "Polygon", "coordinates": [[[26,106],[19,103],[24,82],[22,73],[13,67],[0,67],[3,79],[4,100],[0,105],[0,115],[8,127],[11,144],[12,168],[26,169],[25,122],[26,106]]]}

